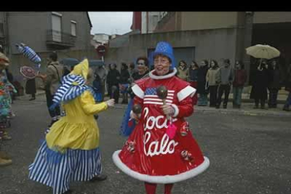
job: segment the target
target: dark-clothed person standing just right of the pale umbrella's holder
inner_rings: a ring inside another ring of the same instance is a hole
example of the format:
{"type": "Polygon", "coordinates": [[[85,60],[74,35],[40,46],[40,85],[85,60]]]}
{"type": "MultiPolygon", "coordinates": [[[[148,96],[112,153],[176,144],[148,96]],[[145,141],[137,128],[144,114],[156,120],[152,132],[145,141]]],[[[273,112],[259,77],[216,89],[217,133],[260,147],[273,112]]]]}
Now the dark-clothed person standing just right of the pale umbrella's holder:
{"type": "Polygon", "coordinates": [[[281,84],[283,82],[282,76],[280,74],[279,66],[276,60],[273,60],[269,66],[270,73],[270,84],[269,89],[269,108],[277,108],[277,97],[278,91],[281,89],[281,84]]]}

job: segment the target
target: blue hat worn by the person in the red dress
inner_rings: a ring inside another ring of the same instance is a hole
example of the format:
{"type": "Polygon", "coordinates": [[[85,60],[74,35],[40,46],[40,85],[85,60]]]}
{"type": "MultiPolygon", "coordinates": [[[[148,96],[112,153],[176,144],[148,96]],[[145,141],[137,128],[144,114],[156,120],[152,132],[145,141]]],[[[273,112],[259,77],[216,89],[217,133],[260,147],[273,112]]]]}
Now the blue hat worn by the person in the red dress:
{"type": "Polygon", "coordinates": [[[157,46],[155,47],[155,51],[151,55],[152,61],[155,58],[155,56],[158,54],[161,54],[163,56],[167,56],[168,58],[171,59],[171,66],[170,66],[171,70],[174,69],[174,67],[176,67],[176,64],[175,64],[176,60],[174,57],[173,48],[172,48],[171,44],[167,43],[166,41],[158,42],[157,46]]]}

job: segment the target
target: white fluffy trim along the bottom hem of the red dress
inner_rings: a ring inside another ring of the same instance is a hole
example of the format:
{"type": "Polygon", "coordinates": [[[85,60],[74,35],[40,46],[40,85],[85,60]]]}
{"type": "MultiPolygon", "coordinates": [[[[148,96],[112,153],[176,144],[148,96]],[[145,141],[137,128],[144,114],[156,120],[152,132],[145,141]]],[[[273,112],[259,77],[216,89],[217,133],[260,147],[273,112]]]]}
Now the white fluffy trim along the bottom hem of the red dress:
{"type": "Polygon", "coordinates": [[[188,172],[183,172],[181,174],[176,175],[165,175],[165,176],[150,176],[147,174],[140,174],[138,172],[135,172],[129,167],[127,167],[119,158],[119,153],[121,150],[115,151],[112,155],[113,162],[115,165],[122,170],[125,174],[133,177],[134,179],[138,179],[139,181],[144,181],[148,183],[160,183],[160,184],[167,184],[167,183],[176,183],[179,181],[185,181],[186,179],[190,179],[194,176],[197,176],[198,174],[201,174],[209,167],[209,160],[207,157],[204,157],[204,162],[200,164],[198,167],[195,167],[195,169],[191,169],[188,172]]]}

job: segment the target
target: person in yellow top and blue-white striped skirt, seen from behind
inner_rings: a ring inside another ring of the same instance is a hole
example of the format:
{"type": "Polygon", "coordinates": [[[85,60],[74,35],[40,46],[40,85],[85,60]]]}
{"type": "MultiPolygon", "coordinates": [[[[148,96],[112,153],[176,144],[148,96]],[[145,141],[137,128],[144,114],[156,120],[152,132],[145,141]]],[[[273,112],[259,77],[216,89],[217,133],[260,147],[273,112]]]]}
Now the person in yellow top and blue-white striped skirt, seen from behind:
{"type": "Polygon", "coordinates": [[[51,108],[62,103],[65,116],[49,129],[29,167],[29,179],[51,186],[53,194],[71,193],[70,181],[106,178],[101,175],[99,128],[93,116],[114,106],[114,100],[96,104],[93,89],[86,85],[89,75],[85,59],[63,77],[51,108]]]}

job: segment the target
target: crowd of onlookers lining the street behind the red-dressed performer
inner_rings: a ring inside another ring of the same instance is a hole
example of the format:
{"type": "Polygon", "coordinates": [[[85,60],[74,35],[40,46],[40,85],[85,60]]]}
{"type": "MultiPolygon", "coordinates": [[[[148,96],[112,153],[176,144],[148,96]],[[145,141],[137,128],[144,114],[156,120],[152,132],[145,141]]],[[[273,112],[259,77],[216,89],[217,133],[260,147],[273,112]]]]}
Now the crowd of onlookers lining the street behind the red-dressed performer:
{"type": "MultiPolygon", "coordinates": [[[[221,108],[222,104],[222,108],[227,108],[228,97],[232,91],[233,108],[240,108],[243,89],[247,83],[247,77],[250,76],[252,86],[250,98],[254,99],[254,108],[276,108],[278,91],[285,86],[289,95],[283,110],[290,111],[291,64],[287,67],[285,75],[282,75],[277,60],[257,60],[252,66],[256,68],[251,69],[251,73],[248,75],[240,60],[236,60],[234,65],[231,65],[228,59],[225,59],[221,65],[216,60],[210,60],[210,62],[202,60],[199,65],[194,60],[190,65],[181,60],[176,67],[176,76],[197,89],[193,96],[193,105],[206,106],[209,99],[210,107],[221,108]],[[267,101],[268,99],[269,101],[267,101]]],[[[130,91],[131,83],[145,77],[151,70],[148,59],[145,57],[138,58],[136,64],[122,63],[120,72],[117,70],[116,64],[110,64],[108,75],[105,75],[105,68],[102,68],[103,86],[105,83],[107,84],[108,93],[115,98],[116,103],[119,103],[119,93],[122,93],[122,103],[124,104],[128,103],[127,93],[130,91]],[[115,86],[115,91],[112,91],[112,86],[115,86]]],[[[104,94],[105,88],[103,87],[104,94]]]]}

